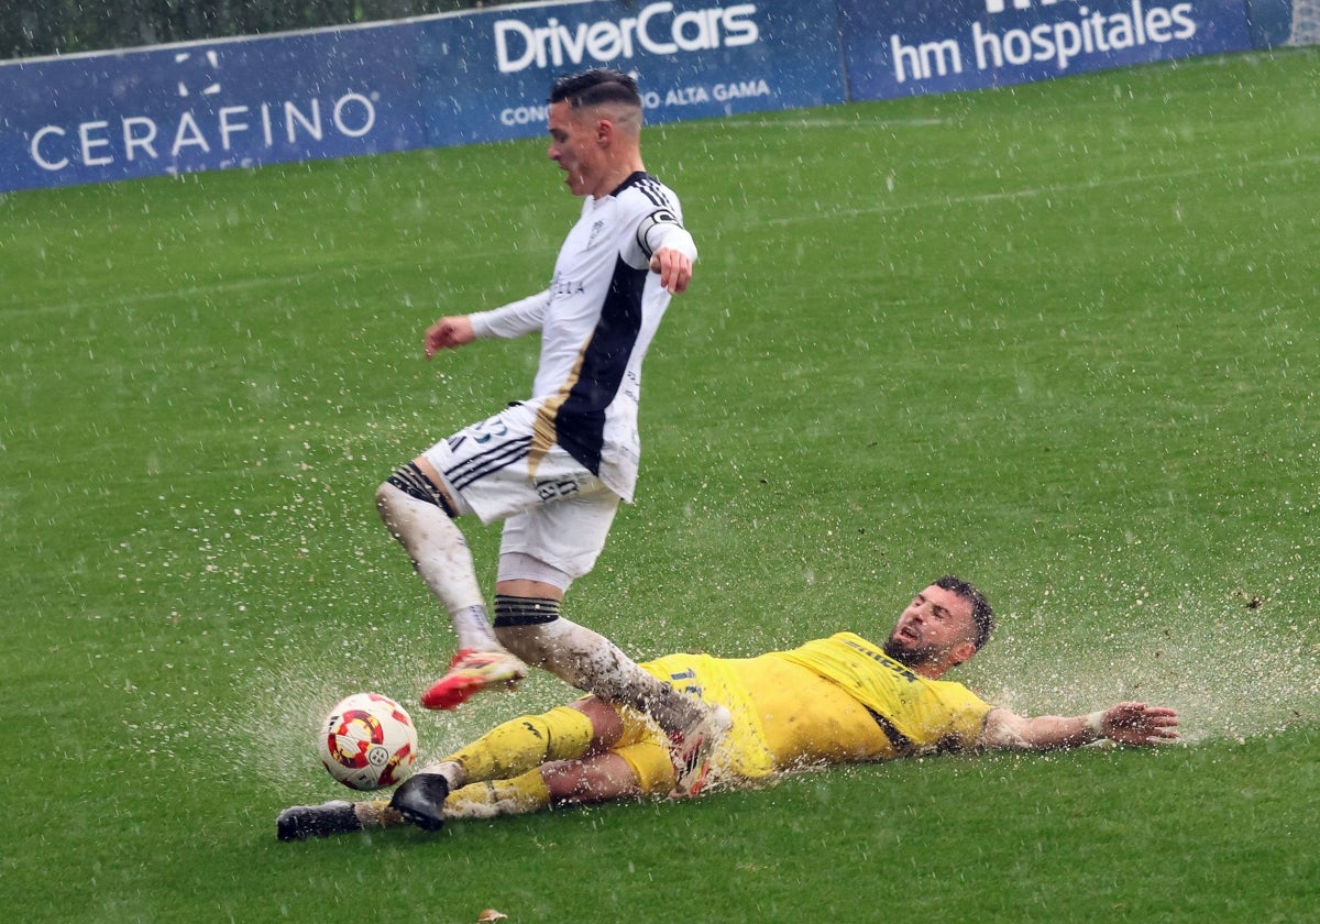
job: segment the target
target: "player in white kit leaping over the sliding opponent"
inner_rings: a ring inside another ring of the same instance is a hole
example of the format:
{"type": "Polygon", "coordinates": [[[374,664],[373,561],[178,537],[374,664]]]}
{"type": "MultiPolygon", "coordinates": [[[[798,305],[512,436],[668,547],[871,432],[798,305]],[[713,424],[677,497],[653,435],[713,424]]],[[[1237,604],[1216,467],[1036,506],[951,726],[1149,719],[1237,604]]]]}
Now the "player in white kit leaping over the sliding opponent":
{"type": "MultiPolygon", "coordinates": [[[[642,360],[697,248],[671,189],[642,162],[642,99],[619,71],[554,82],[549,157],[582,197],[549,286],[491,312],[446,317],[426,356],[477,338],[541,335],[532,397],[442,440],[380,486],[376,500],[426,586],[453,619],[458,653],[422,693],[430,709],[510,686],[543,667],[578,689],[632,705],[667,733],[678,795],[696,795],[729,714],[675,692],[614,643],[560,615],[572,581],[605,546],[638,477],[642,360]],[[494,627],[454,519],[504,523],[494,627]]],[[[438,824],[453,780],[413,776],[395,807],[438,824]]]]}

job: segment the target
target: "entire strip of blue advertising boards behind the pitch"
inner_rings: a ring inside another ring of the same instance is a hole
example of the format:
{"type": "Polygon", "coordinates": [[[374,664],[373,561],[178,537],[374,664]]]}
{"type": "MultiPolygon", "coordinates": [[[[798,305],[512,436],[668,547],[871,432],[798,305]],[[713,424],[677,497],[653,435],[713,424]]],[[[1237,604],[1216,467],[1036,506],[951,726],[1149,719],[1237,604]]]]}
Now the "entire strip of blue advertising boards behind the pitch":
{"type": "Polygon", "coordinates": [[[0,190],[541,135],[565,73],[647,120],[977,90],[1283,42],[1320,0],[557,0],[0,62],[0,190]]]}

